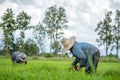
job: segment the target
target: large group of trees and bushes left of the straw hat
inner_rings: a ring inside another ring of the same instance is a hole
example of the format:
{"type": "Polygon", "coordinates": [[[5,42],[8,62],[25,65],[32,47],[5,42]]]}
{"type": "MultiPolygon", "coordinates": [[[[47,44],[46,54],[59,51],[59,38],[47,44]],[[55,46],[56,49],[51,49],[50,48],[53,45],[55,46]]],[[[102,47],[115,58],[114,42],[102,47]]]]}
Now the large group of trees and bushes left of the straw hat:
{"type": "Polygon", "coordinates": [[[24,11],[17,16],[12,9],[7,9],[1,17],[0,28],[3,31],[1,54],[8,54],[13,51],[22,51],[28,55],[36,55],[45,52],[46,38],[50,39],[50,53],[57,54],[60,49],[60,38],[64,34],[63,29],[67,29],[67,16],[63,7],[56,5],[46,9],[42,22],[37,25],[30,25],[31,16],[24,11]],[[34,39],[25,41],[25,31],[33,29],[34,39]],[[15,32],[19,31],[19,37],[15,38],[15,32]]]}

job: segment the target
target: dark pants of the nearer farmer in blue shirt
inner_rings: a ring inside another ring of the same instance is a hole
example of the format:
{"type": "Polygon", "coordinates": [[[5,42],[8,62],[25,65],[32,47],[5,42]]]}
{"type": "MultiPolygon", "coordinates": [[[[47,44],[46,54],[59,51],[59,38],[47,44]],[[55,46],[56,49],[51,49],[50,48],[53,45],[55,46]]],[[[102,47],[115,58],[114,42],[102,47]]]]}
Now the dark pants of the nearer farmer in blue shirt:
{"type": "MultiPolygon", "coordinates": [[[[95,71],[97,69],[98,66],[98,62],[99,62],[99,58],[100,58],[100,52],[96,52],[93,56],[92,56],[92,62],[95,68],[95,71]]],[[[91,72],[91,68],[89,67],[87,70],[85,70],[87,73],[91,72]]]]}

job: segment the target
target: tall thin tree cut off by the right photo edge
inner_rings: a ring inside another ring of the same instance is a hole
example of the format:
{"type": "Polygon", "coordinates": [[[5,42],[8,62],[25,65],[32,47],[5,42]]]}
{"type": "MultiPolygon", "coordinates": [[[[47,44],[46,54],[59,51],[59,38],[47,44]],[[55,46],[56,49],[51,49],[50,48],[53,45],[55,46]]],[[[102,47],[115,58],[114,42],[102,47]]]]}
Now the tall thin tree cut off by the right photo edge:
{"type": "Polygon", "coordinates": [[[114,33],[113,40],[115,42],[115,48],[116,48],[116,57],[118,57],[118,51],[120,49],[120,10],[116,10],[113,33],[114,33]]]}

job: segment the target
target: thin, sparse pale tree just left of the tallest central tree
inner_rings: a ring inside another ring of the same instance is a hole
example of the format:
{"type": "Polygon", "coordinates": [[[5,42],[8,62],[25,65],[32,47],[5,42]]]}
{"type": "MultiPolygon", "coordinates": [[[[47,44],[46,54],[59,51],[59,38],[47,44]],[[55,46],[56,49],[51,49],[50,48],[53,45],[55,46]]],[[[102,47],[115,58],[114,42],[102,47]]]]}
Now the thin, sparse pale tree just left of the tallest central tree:
{"type": "Polygon", "coordinates": [[[33,29],[34,38],[39,45],[40,52],[42,53],[45,51],[46,29],[40,22],[33,29]]]}

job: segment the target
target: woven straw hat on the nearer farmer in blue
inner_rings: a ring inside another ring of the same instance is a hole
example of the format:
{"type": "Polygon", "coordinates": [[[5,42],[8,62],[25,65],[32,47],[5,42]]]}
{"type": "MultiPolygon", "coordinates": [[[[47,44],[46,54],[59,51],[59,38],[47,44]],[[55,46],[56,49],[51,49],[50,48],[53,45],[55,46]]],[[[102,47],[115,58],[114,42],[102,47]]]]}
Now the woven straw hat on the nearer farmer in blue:
{"type": "Polygon", "coordinates": [[[64,48],[63,48],[63,52],[69,50],[75,43],[76,37],[72,36],[69,39],[67,38],[63,38],[61,40],[61,43],[63,44],[64,48]]]}

